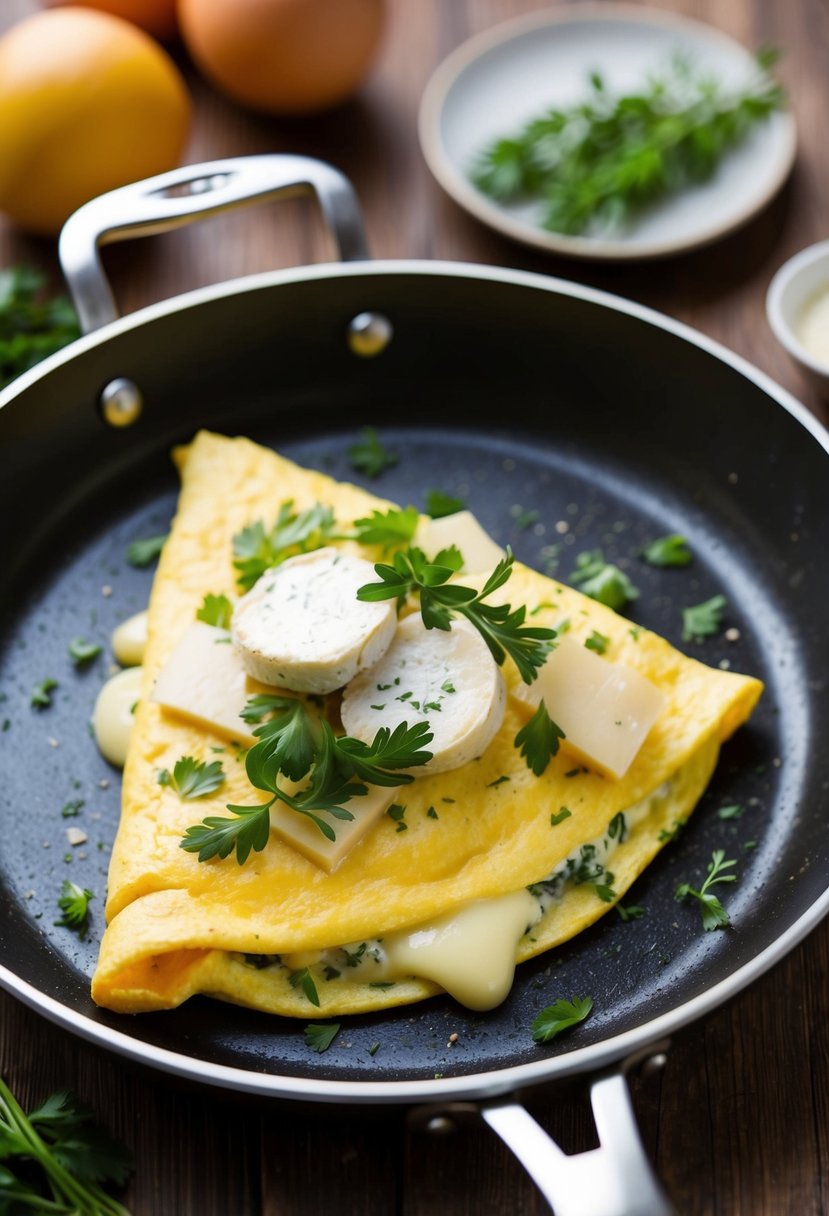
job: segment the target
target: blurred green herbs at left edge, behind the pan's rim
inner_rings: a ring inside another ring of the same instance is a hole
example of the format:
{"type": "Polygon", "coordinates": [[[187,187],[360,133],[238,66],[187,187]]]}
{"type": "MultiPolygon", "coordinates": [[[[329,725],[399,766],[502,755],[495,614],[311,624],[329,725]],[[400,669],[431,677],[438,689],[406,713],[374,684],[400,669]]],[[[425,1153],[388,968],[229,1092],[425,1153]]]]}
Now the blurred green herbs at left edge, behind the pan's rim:
{"type": "Polygon", "coordinates": [[[0,270],[0,388],[80,337],[72,304],[44,299],[45,282],[29,266],[0,270]]]}

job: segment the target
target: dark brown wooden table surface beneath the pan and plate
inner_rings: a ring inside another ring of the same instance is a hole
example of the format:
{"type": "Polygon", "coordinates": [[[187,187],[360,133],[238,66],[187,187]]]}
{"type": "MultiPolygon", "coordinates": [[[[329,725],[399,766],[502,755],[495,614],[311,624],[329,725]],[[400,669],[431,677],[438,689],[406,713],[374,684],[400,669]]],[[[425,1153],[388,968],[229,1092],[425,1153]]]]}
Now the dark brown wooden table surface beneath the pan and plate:
{"type": "MultiPolygon", "coordinates": [[[[799,124],[797,162],[782,195],[717,244],[664,263],[591,265],[511,243],[469,219],[432,180],[416,136],[422,89],[469,34],[541,7],[534,0],[391,0],[382,55],[360,97],[338,112],[284,122],[235,107],[176,51],[196,98],[191,162],[293,151],[329,159],[353,180],[377,257],[449,258],[591,283],[689,322],[746,356],[819,416],[768,330],[774,270],[829,231],[829,7],[822,0],[660,0],[746,46],[783,47],[799,124]]],[[[36,11],[5,0],[0,29],[36,11]]],[[[119,247],[107,266],[123,309],[205,283],[329,257],[299,202],[249,208],[198,229],[119,247]]],[[[53,242],[0,221],[0,264],[28,261],[57,281],[53,242]]],[[[667,1065],[633,1080],[643,1141],[681,1214],[817,1216],[829,1210],[829,925],[729,1006],[678,1036],[667,1065]]],[[[134,1150],[135,1216],[541,1212],[543,1201],[480,1124],[445,1137],[405,1111],[318,1109],[186,1088],[56,1029],[0,995],[0,1073],[24,1102],[69,1087],[134,1150]]],[[[537,1094],[534,1110],[568,1149],[591,1144],[585,1103],[537,1094]]]]}

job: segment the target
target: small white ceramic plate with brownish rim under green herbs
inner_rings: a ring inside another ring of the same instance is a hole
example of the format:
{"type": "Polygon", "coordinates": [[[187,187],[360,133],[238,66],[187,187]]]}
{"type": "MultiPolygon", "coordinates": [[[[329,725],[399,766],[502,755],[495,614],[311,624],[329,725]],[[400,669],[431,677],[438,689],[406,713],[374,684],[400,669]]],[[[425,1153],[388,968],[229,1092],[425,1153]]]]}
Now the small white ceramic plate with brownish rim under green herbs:
{"type": "Polygon", "coordinates": [[[491,140],[554,105],[585,95],[592,71],[610,92],[638,89],[676,51],[731,85],[754,57],[710,26],[653,9],[568,5],[511,21],[470,39],[445,60],[421,105],[423,154],[444,190],[479,220],[518,241],[581,258],[641,259],[692,249],[755,215],[785,181],[795,123],[778,112],[732,148],[706,182],[653,206],[624,232],[565,236],[540,226],[536,204],[504,204],[480,193],[469,167],[491,140]]]}

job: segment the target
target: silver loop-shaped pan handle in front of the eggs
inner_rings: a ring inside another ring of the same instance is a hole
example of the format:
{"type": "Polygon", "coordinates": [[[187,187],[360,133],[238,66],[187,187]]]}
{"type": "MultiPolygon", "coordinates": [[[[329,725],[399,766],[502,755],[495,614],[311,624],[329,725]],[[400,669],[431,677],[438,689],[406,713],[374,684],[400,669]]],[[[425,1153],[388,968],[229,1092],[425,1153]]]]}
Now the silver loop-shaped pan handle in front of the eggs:
{"type": "Polygon", "coordinates": [[[188,164],[84,203],[63,225],[58,254],[84,333],[118,316],[98,248],[151,236],[276,195],[316,195],[343,261],[368,258],[349,181],[311,157],[272,153],[188,164]]]}

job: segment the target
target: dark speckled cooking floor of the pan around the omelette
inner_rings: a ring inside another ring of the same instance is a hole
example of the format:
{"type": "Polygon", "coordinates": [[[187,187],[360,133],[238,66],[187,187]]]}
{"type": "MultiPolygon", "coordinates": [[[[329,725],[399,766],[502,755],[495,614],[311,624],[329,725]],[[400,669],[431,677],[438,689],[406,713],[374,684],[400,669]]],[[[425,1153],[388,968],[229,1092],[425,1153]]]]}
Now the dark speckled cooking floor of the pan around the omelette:
{"type": "MultiPolygon", "coordinates": [[[[372,421],[372,410],[363,417],[372,421]]],[[[543,420],[507,429],[504,417],[508,411],[492,409],[485,426],[378,421],[397,461],[371,480],[349,460],[356,427],[277,432],[267,418],[252,417],[242,427],[221,410],[212,424],[244,429],[303,465],[401,503],[423,508],[433,489],[456,495],[521,561],[564,581],[577,553],[602,548],[641,589],[628,610],[632,624],[714,666],[766,681],[754,719],[723,749],[693,820],[624,900],[644,914],[624,922],[610,911],[571,944],[523,964],[511,997],[492,1013],[436,998],[349,1019],[325,1055],[305,1046],[303,1023],[207,998],[137,1018],[96,1009],[89,976],[102,931],[119,775],[98,755],[89,719],[109,671],[111,631],[145,607],[150,592],[152,568],[131,567],[126,546],[164,533],[174,511],[177,484],[165,439],[108,474],[90,473],[67,501],[55,503],[29,545],[13,598],[5,599],[0,882],[9,916],[0,958],[16,975],[102,1028],[209,1064],[343,1081],[462,1076],[590,1046],[676,1008],[754,957],[818,897],[828,857],[820,823],[825,794],[820,800],[818,793],[825,772],[816,770],[811,747],[820,725],[808,641],[816,630],[805,631],[791,610],[793,574],[808,564],[797,545],[808,537],[786,519],[769,541],[755,510],[760,486],[744,495],[735,450],[705,474],[695,467],[692,477],[679,450],[645,461],[624,450],[617,432],[611,441],[610,428],[603,438],[600,428],[576,421],[562,439],[543,420]],[[688,539],[694,552],[688,569],[641,561],[642,546],[667,533],[688,539]],[[739,637],[683,642],[681,608],[720,593],[728,599],[727,625],[739,637]],[[78,636],[103,647],[80,666],[68,655],[78,636]],[[32,692],[44,680],[57,683],[51,705],[38,709],[32,692]],[[739,816],[722,818],[726,806],[739,806],[739,816]],[[69,844],[72,827],[85,833],[83,844],[69,844]],[[700,884],[714,849],[737,860],[739,880],[721,888],[733,928],[704,933],[698,908],[677,903],[675,890],[684,880],[700,884]],[[793,874],[800,876],[796,891],[788,882],[793,874]],[[55,923],[64,879],[94,893],[84,939],[55,923]],[[530,1025],[540,1009],[587,995],[594,1002],[588,1021],[548,1047],[532,1043],[530,1025]]],[[[671,452],[656,434],[649,444],[671,452]]]]}

